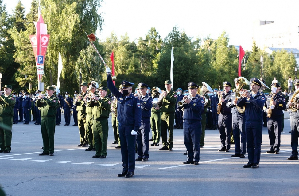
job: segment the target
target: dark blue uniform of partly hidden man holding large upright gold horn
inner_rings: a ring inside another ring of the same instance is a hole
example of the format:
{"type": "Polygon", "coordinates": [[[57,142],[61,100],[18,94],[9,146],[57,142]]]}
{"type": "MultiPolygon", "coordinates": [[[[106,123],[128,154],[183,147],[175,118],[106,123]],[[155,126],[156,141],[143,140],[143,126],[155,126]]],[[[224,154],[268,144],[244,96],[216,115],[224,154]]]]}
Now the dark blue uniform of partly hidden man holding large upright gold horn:
{"type": "MultiPolygon", "coordinates": [[[[236,93],[231,93],[231,98],[227,102],[227,107],[231,108],[233,135],[235,142],[235,154],[246,154],[246,132],[245,132],[245,113],[240,113],[233,102],[236,99],[236,93]],[[241,135],[241,140],[240,140],[241,135]]],[[[243,109],[243,108],[241,108],[243,109]]],[[[242,155],[242,156],[243,156],[242,155]]]]}

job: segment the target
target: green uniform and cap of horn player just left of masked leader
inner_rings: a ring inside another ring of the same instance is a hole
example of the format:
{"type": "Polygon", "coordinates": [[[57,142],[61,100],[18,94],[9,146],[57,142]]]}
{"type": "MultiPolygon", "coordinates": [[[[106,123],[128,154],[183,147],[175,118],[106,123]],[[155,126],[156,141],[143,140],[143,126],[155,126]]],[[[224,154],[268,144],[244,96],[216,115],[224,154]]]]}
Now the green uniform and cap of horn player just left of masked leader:
{"type": "MultiPolygon", "coordinates": [[[[99,90],[108,90],[107,87],[100,87],[99,90]]],[[[111,99],[107,96],[98,101],[89,102],[93,115],[93,131],[95,138],[95,156],[107,155],[107,139],[108,139],[108,118],[111,107],[111,99]]]]}

